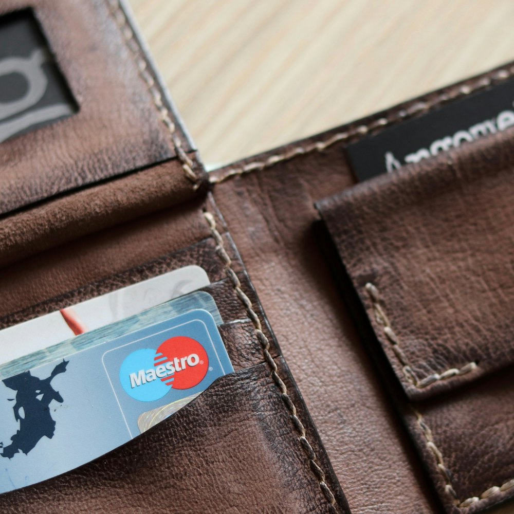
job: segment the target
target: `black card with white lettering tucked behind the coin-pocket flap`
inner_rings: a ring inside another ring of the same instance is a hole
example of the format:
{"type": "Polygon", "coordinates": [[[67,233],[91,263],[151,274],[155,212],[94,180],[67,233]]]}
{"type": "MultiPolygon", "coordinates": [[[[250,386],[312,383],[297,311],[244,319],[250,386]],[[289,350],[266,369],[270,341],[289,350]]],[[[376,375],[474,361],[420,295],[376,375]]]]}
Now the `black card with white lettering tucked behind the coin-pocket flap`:
{"type": "Polygon", "coordinates": [[[397,170],[514,126],[514,81],[450,101],[347,146],[358,180],[397,170]]]}

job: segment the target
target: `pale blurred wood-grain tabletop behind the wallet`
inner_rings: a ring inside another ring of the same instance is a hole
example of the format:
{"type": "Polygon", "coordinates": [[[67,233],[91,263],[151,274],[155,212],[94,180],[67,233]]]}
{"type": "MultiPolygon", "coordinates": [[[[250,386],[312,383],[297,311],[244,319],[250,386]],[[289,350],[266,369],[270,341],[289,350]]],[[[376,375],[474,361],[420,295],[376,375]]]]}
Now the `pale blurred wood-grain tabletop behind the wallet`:
{"type": "Polygon", "coordinates": [[[210,166],[514,60],[512,0],[130,0],[210,166]]]}

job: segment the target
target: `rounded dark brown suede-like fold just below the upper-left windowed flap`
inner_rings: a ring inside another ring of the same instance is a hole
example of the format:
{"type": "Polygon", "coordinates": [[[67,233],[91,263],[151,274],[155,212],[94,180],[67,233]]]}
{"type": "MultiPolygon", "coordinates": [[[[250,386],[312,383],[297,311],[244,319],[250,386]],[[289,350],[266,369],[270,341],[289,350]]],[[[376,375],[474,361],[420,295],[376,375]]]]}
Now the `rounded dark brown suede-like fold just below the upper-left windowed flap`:
{"type": "MultiPolygon", "coordinates": [[[[196,154],[191,154],[196,158],[196,154]]],[[[0,218],[0,265],[194,198],[178,159],[0,218]]]]}

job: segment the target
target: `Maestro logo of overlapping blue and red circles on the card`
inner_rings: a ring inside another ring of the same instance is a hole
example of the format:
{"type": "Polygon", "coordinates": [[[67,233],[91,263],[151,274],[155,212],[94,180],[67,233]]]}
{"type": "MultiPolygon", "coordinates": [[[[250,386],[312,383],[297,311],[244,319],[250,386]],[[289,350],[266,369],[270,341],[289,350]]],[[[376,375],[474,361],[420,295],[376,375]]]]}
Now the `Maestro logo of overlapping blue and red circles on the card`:
{"type": "Polygon", "coordinates": [[[139,401],[155,401],[173,389],[191,389],[207,375],[205,348],[186,336],[164,341],[157,351],[140,348],[128,355],[120,368],[124,391],[139,401]]]}

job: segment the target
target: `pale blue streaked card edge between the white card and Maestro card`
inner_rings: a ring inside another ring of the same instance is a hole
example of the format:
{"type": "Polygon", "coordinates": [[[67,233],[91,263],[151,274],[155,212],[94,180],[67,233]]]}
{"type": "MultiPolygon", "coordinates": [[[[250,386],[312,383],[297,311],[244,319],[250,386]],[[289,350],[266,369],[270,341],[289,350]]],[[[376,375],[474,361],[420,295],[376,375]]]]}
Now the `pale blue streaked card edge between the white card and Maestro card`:
{"type": "Polygon", "coordinates": [[[68,357],[91,346],[134,332],[139,328],[153,325],[159,321],[174,318],[193,309],[205,309],[211,313],[216,325],[223,323],[214,298],[208,292],[195,291],[189,295],[152,307],[122,321],[111,323],[110,325],[97,328],[38,352],[33,352],[19,359],[7,362],[0,366],[0,379],[17,375],[47,362],[68,357]]]}

